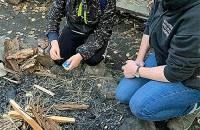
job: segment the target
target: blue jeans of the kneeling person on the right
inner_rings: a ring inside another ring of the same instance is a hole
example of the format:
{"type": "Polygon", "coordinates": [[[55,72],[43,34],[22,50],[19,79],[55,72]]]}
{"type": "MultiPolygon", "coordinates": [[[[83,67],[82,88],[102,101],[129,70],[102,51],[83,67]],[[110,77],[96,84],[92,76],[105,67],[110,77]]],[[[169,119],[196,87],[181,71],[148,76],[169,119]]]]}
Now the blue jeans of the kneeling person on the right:
{"type": "MultiPolygon", "coordinates": [[[[157,66],[155,54],[145,61],[146,67],[157,66]]],[[[200,102],[200,91],[181,82],[164,83],[144,78],[122,79],[116,90],[120,103],[129,104],[138,118],[150,121],[168,120],[188,114],[200,102]]]]}

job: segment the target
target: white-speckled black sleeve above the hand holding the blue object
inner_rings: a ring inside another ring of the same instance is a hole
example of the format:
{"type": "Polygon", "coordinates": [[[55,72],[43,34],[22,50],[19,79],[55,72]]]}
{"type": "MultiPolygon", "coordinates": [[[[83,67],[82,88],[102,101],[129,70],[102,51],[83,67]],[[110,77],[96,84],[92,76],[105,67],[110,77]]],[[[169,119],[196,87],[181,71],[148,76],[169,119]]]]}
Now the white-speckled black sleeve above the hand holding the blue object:
{"type": "Polygon", "coordinates": [[[115,22],[115,12],[116,0],[108,0],[94,33],[90,34],[85,44],[77,48],[77,53],[80,53],[84,60],[91,58],[97,50],[108,43],[115,22]]]}

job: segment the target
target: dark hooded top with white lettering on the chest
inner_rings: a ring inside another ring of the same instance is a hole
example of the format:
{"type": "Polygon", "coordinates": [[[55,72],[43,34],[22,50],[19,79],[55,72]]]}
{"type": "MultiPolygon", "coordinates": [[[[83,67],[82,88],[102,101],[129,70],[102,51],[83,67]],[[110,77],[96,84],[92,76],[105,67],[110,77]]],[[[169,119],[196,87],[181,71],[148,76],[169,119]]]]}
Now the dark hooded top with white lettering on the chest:
{"type": "Polygon", "coordinates": [[[165,77],[200,89],[200,0],[155,0],[144,33],[165,77]]]}

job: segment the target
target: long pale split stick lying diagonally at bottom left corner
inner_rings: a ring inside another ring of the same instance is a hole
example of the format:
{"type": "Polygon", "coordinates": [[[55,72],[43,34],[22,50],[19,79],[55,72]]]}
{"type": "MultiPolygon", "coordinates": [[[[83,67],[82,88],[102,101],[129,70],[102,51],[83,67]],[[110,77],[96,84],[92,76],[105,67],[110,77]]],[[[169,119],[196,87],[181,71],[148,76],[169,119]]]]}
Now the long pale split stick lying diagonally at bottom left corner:
{"type": "Polygon", "coordinates": [[[43,130],[38,123],[33,120],[28,114],[26,114],[22,108],[14,101],[10,100],[11,106],[14,108],[15,111],[17,111],[21,117],[34,129],[34,130],[43,130]]]}

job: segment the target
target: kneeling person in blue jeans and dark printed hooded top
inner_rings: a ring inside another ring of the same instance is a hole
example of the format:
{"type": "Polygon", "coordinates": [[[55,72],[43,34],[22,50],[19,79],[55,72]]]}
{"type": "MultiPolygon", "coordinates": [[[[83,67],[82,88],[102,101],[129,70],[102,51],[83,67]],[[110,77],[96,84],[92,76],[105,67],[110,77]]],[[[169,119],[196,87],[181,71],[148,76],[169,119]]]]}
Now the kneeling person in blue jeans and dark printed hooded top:
{"type": "Polygon", "coordinates": [[[200,116],[199,11],[200,0],[154,1],[138,56],[122,67],[116,90],[136,117],[185,130],[200,116]]]}

